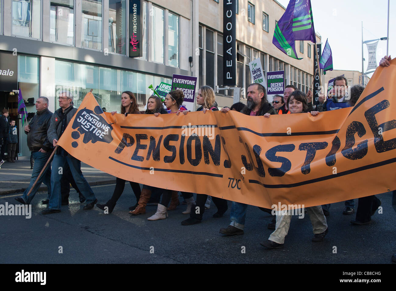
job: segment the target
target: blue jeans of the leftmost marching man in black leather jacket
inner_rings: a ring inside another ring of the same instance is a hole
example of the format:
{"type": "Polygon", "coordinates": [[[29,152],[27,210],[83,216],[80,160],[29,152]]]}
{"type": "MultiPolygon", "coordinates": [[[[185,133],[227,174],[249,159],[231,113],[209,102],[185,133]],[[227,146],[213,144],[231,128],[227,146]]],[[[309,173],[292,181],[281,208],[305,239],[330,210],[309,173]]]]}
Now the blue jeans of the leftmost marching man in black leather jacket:
{"type": "Polygon", "coordinates": [[[30,195],[27,196],[27,193],[29,192],[30,188],[32,188],[32,186],[34,184],[34,181],[36,181],[36,179],[38,177],[38,174],[40,174],[40,172],[43,169],[44,165],[48,161],[49,156],[51,156],[51,152],[32,152],[32,156],[33,156],[33,159],[34,159],[32,177],[30,178],[29,186],[23,192],[23,196],[22,196],[22,199],[27,204],[30,204],[30,202],[34,198],[34,195],[36,195],[36,192],[37,192],[38,188],[40,188],[41,183],[44,183],[44,184],[47,185],[48,195],[51,195],[51,165],[49,164],[47,166],[47,169],[41,175],[40,179],[38,179],[38,181],[36,183],[36,186],[34,186],[32,192],[30,192],[30,195]]]}

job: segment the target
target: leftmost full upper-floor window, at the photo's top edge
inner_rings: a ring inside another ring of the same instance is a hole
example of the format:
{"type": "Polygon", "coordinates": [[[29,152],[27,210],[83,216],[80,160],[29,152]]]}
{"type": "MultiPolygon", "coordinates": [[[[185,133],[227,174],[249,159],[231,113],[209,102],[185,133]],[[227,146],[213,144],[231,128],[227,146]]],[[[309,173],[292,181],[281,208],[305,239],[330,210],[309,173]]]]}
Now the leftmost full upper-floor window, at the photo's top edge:
{"type": "Polygon", "coordinates": [[[12,0],[12,34],[40,39],[41,0],[12,0]]]}

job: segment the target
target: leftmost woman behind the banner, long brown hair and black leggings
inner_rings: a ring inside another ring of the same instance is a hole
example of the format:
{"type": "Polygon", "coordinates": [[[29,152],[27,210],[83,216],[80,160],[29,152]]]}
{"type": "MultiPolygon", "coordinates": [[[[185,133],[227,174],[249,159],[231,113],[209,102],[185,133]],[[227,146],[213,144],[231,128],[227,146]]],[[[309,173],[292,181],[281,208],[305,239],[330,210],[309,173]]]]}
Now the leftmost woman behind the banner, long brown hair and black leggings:
{"type": "MultiPolygon", "coordinates": [[[[111,112],[111,115],[114,115],[116,112],[111,112]]],[[[121,114],[128,116],[128,114],[140,114],[139,108],[137,107],[136,97],[131,91],[124,91],[121,94],[121,114]]],[[[133,193],[136,197],[136,204],[133,207],[134,210],[137,206],[137,202],[140,198],[140,185],[139,183],[129,181],[131,184],[133,193]]],[[[114,206],[116,205],[118,199],[121,197],[122,192],[124,192],[125,188],[125,180],[116,177],[116,188],[114,189],[113,195],[111,196],[110,200],[107,201],[105,204],[96,204],[99,209],[105,210],[107,207],[108,213],[112,213],[114,206]]]]}

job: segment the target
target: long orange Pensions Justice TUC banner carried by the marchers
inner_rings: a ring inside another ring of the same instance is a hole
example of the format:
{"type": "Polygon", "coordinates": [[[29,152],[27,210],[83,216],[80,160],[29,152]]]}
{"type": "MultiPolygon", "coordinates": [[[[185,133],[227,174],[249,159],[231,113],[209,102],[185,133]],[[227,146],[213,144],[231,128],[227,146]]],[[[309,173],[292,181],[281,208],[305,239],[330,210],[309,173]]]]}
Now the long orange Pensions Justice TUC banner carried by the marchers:
{"type": "Polygon", "coordinates": [[[395,78],[392,60],[355,107],[318,116],[111,116],[88,93],[58,145],[101,171],[160,188],[267,208],[345,201],[396,189],[395,78]]]}

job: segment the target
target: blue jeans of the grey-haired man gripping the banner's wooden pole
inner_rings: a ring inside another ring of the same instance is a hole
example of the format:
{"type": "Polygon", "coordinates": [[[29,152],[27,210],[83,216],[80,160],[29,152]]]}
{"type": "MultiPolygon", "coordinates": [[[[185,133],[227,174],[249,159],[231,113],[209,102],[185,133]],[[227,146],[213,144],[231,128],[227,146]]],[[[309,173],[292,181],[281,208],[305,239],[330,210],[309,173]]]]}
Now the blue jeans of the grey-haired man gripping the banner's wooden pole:
{"type": "Polygon", "coordinates": [[[61,179],[63,167],[65,167],[66,163],[70,167],[70,171],[72,172],[73,179],[76,182],[78,189],[81,191],[81,194],[86,198],[86,202],[89,204],[96,200],[95,194],[93,194],[93,191],[89,186],[87,180],[82,175],[80,160],[77,160],[73,156],[70,156],[70,154],[68,156],[61,156],[55,154],[52,162],[51,198],[49,198],[48,204],[49,209],[61,209],[61,179]]]}

